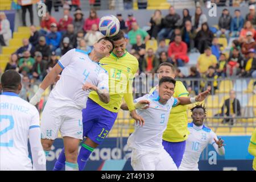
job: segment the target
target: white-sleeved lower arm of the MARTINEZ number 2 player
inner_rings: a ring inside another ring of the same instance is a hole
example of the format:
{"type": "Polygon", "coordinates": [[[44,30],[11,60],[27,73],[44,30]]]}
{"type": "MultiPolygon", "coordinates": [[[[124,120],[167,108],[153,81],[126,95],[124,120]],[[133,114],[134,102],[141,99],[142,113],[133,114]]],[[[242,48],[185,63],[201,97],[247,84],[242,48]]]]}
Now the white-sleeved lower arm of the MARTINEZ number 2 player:
{"type": "Polygon", "coordinates": [[[40,136],[40,127],[30,129],[29,139],[34,171],[46,171],[46,155],[41,144],[40,136]]]}

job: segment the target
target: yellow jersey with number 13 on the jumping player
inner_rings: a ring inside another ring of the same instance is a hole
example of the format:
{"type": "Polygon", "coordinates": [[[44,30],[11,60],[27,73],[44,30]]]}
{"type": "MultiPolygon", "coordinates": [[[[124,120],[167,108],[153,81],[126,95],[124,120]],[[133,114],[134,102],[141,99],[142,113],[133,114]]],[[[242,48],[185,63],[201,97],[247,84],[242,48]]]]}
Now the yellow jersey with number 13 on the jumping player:
{"type": "Polygon", "coordinates": [[[109,57],[100,60],[101,67],[109,73],[109,94],[108,104],[100,101],[96,92],[91,92],[89,98],[105,109],[117,113],[122,104],[122,98],[125,99],[129,110],[134,110],[133,104],[133,78],[138,70],[139,62],[126,52],[122,57],[117,57],[111,53],[109,57]]]}

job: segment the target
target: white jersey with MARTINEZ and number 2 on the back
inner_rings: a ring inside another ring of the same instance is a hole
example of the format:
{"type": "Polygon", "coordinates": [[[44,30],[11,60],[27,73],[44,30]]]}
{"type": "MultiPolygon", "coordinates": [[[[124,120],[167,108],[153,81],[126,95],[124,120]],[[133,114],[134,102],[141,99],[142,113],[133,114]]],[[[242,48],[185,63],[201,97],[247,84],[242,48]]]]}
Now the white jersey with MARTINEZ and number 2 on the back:
{"type": "Polygon", "coordinates": [[[35,106],[15,93],[0,95],[0,170],[32,170],[28,134],[35,127],[39,127],[35,106]]]}

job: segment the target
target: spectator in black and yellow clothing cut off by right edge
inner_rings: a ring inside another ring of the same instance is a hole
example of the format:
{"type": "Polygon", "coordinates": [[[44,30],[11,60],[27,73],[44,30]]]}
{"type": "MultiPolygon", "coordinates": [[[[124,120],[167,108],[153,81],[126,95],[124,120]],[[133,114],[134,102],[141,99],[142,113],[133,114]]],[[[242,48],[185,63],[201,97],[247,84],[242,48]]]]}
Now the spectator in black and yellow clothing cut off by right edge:
{"type": "Polygon", "coordinates": [[[242,76],[256,78],[255,49],[250,49],[249,50],[249,57],[246,61],[245,72],[242,73],[242,76]]]}

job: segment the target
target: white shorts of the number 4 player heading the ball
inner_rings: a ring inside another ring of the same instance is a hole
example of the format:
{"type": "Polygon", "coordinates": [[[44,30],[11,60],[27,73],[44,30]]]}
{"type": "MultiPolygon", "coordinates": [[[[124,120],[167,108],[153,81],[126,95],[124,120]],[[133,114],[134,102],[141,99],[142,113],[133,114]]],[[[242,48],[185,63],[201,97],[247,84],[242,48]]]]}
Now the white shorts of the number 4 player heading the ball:
{"type": "Polygon", "coordinates": [[[41,119],[42,139],[62,137],[82,139],[82,111],[60,101],[49,99],[41,119]]]}

